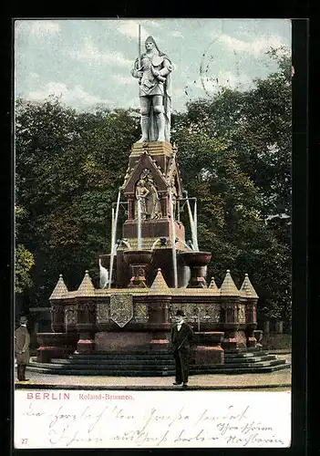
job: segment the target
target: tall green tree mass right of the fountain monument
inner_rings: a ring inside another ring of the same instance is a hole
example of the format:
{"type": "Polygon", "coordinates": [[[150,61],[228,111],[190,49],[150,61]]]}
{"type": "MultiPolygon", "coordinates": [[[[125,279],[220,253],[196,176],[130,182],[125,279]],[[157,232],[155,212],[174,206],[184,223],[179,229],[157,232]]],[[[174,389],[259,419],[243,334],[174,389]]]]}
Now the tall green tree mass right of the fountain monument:
{"type": "MultiPolygon", "coordinates": [[[[227,268],[238,286],[248,273],[259,316],[291,315],[291,63],[247,91],[222,88],[173,119],[184,187],[198,199],[201,249],[209,273],[227,268]]],[[[186,222],[187,223],[187,222],[186,222]]]]}

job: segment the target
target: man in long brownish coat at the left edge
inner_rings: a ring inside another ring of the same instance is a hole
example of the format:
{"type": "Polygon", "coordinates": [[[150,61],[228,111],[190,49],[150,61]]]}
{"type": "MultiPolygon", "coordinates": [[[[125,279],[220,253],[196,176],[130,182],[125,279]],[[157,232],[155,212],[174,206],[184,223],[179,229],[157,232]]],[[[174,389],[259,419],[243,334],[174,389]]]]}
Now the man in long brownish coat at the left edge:
{"type": "Polygon", "coordinates": [[[17,364],[17,379],[28,381],[26,378],[26,365],[29,362],[30,335],[26,328],[26,316],[20,317],[20,326],[15,329],[15,358],[17,364]]]}

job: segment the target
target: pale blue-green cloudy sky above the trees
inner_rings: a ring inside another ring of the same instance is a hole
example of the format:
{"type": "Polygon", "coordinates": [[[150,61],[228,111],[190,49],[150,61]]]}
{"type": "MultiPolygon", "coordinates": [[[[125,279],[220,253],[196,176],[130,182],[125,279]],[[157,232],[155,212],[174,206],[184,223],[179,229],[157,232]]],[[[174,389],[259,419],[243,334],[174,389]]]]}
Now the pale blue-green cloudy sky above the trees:
{"type": "Polygon", "coordinates": [[[291,49],[285,19],[99,19],[15,22],[15,98],[61,96],[72,108],[139,108],[130,69],[154,37],[174,66],[172,109],[211,98],[217,85],[249,88],[276,69],[269,47],[291,49]]]}

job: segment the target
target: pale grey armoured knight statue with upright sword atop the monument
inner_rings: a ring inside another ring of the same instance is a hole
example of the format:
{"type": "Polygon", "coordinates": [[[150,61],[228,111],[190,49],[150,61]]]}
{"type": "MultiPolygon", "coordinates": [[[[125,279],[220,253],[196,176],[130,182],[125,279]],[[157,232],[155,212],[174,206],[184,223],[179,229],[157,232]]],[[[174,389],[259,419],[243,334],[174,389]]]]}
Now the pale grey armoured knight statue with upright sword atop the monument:
{"type": "Polygon", "coordinates": [[[131,70],[131,75],[139,78],[142,136],[138,142],[170,142],[170,73],[173,67],[152,36],[146,39],[145,47],[146,52],[141,55],[139,45],[139,57],[131,70]]]}

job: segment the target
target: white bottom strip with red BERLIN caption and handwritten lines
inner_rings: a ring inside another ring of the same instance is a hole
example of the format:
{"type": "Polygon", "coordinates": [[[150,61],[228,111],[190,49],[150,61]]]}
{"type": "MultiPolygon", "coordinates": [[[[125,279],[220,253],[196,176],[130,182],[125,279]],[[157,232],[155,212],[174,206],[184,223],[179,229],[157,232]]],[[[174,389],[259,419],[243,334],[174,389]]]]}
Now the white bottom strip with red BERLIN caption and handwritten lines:
{"type": "Polygon", "coordinates": [[[285,392],[17,390],[15,448],[287,447],[290,400],[285,392]]]}

